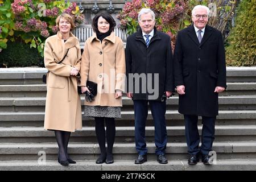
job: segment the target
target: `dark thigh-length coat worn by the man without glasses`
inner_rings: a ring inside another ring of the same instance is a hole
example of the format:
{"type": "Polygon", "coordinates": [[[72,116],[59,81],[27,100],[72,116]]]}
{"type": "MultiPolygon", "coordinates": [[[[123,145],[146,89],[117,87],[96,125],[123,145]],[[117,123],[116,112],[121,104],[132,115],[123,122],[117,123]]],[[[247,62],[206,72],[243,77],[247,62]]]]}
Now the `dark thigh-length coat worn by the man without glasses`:
{"type": "Polygon", "coordinates": [[[173,57],[170,36],[154,28],[154,36],[147,48],[142,36],[142,30],[127,38],[126,49],[126,76],[127,88],[133,93],[133,100],[160,100],[165,91],[174,92],[173,57]],[[146,75],[143,78],[129,79],[129,73],[146,75]],[[154,81],[154,75],[159,79],[154,81]],[[152,75],[152,80],[150,79],[152,75]],[[149,77],[148,77],[149,76],[149,77]],[[143,80],[144,79],[144,80],[143,80]],[[143,80],[143,81],[142,81],[143,80]],[[129,82],[131,85],[129,88],[129,82]],[[158,85],[154,85],[158,84],[158,85]],[[159,87],[157,93],[151,93],[148,88],[159,87]],[[138,92],[136,92],[138,91],[138,92]],[[152,98],[156,94],[157,98],[152,98]]]}

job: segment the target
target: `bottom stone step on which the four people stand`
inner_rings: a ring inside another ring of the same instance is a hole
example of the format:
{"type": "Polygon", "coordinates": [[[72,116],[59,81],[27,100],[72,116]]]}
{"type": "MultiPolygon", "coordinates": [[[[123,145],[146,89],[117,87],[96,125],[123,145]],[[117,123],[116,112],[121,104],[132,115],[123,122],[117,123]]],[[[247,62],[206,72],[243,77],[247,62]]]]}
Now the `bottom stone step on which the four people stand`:
{"type": "MultiPolygon", "coordinates": [[[[134,164],[132,159],[114,160],[113,164],[96,164],[95,160],[77,160],[76,162],[76,164],[64,167],[52,160],[46,160],[45,163],[37,160],[0,161],[0,171],[115,171],[114,173],[120,171],[148,171],[147,173],[168,171],[170,175],[173,175],[174,173],[171,171],[255,171],[256,168],[256,159],[217,159],[216,164],[211,166],[205,166],[201,162],[194,166],[188,165],[187,160],[168,160],[168,164],[164,165],[159,164],[156,160],[148,160],[144,164],[134,164]]],[[[108,172],[102,172],[102,175],[105,173],[108,172]]],[[[93,177],[97,179],[96,176],[93,177]]],[[[98,179],[100,177],[101,175],[98,179]]],[[[158,179],[156,175],[154,177],[156,180],[158,179]]]]}

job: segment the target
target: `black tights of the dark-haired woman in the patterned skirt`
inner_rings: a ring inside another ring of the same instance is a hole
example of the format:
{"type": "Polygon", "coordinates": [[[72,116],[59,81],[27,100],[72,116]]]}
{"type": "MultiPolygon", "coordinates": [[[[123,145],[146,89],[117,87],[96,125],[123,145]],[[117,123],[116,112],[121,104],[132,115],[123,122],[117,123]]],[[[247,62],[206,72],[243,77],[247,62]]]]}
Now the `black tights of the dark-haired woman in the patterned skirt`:
{"type": "Polygon", "coordinates": [[[95,131],[98,139],[98,144],[101,150],[100,158],[113,159],[112,151],[115,140],[115,119],[95,117],[95,131]],[[104,119],[106,122],[106,134],[104,127],[104,119]],[[107,139],[108,149],[106,151],[105,138],[107,139]]]}

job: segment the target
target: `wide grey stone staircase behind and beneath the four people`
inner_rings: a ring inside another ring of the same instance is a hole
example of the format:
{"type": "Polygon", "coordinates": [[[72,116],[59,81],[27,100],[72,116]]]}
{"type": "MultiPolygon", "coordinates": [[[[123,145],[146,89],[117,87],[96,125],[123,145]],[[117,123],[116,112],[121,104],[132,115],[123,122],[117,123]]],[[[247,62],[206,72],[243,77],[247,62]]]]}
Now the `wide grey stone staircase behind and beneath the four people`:
{"type": "MultiPolygon", "coordinates": [[[[82,117],[82,130],[72,133],[69,154],[77,164],[57,163],[53,131],[43,129],[45,68],[0,69],[0,170],[255,170],[256,68],[227,68],[228,90],[220,94],[213,150],[217,164],[187,164],[183,115],[178,98],[167,100],[168,164],[156,162],[154,126],[149,111],[146,139],[148,162],[136,165],[133,102],[123,97],[122,118],[116,121],[114,164],[96,164],[100,154],[92,118],[82,117]],[[39,160],[46,154],[46,163],[39,160]]],[[[84,100],[83,97],[81,97],[84,100]]],[[[200,123],[200,122],[199,122],[200,123]]],[[[201,132],[201,126],[200,132],[201,132]]]]}

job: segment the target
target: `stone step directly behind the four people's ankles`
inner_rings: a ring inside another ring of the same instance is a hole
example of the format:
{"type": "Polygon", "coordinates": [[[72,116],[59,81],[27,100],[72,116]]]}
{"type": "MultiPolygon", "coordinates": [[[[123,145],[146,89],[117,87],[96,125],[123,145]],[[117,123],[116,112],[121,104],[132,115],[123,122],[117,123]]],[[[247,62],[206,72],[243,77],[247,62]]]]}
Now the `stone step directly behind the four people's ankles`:
{"type": "MultiPolygon", "coordinates": [[[[68,152],[74,160],[95,160],[100,148],[95,143],[70,142],[68,152]]],[[[155,143],[147,142],[148,160],[155,160],[155,143]]],[[[213,151],[217,159],[255,159],[256,141],[214,142],[213,151]]],[[[58,147],[52,143],[0,143],[1,160],[38,160],[42,154],[47,160],[56,160],[58,147]]],[[[137,157],[135,143],[114,143],[115,160],[131,160],[137,157]]],[[[166,156],[169,160],[187,159],[187,144],[167,143],[166,156]]]]}

